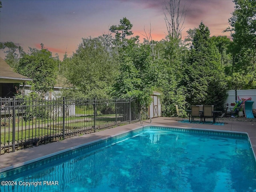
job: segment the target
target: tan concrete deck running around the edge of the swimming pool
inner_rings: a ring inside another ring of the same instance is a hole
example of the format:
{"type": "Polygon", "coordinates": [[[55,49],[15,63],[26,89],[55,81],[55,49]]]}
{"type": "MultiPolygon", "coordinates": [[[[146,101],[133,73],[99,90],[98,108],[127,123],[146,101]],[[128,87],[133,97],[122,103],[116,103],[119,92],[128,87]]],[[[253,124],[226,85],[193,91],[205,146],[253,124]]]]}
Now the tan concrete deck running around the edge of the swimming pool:
{"type": "MultiPolygon", "coordinates": [[[[256,154],[256,122],[238,122],[238,121],[226,121],[224,126],[212,125],[212,124],[189,124],[178,122],[180,118],[158,117],[142,122],[145,125],[158,125],[158,126],[173,126],[180,128],[199,128],[210,130],[225,130],[234,132],[246,132],[249,135],[252,143],[254,154],[256,154]]],[[[223,122],[223,121],[222,121],[223,122]]],[[[130,130],[140,128],[140,122],[134,124],[127,124],[124,126],[118,126],[115,128],[103,130],[100,132],[85,134],[82,136],[76,136],[68,138],[62,141],[53,142],[46,145],[41,145],[33,148],[27,148],[24,150],[18,150],[13,153],[0,155],[0,172],[9,170],[10,168],[16,168],[34,161],[44,159],[69,150],[70,148],[76,148],[82,144],[94,142],[95,140],[110,138],[113,135],[122,134],[130,130]]]]}

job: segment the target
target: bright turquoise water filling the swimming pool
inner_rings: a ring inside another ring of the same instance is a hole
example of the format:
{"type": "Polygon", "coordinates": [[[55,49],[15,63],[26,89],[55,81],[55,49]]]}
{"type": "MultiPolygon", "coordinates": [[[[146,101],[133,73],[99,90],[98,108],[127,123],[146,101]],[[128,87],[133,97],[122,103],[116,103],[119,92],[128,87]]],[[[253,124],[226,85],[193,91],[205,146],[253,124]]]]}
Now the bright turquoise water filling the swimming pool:
{"type": "Polygon", "coordinates": [[[255,192],[256,161],[246,134],[146,127],[0,180],[1,192],[255,192]]]}

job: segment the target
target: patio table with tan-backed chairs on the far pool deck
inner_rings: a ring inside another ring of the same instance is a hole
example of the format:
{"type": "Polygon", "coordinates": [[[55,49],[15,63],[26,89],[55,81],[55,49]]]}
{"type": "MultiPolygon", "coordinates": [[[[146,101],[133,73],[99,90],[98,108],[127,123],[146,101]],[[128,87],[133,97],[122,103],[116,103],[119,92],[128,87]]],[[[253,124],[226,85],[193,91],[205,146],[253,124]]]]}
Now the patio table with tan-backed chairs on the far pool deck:
{"type": "Polygon", "coordinates": [[[218,117],[218,114],[221,113],[221,111],[214,110],[214,105],[191,106],[191,110],[186,110],[186,112],[188,113],[189,122],[190,122],[190,118],[191,118],[191,122],[193,122],[195,117],[199,117],[200,122],[206,122],[205,118],[213,118],[212,124],[216,122],[216,118],[218,117]]]}

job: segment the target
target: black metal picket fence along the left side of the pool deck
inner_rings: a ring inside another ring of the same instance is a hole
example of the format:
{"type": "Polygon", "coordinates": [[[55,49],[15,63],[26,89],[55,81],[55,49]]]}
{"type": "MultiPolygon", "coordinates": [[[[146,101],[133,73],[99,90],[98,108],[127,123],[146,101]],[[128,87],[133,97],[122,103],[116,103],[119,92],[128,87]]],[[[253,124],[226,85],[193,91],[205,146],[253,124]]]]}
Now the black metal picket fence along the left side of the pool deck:
{"type": "Polygon", "coordinates": [[[1,154],[139,121],[135,99],[0,98],[1,154]]]}

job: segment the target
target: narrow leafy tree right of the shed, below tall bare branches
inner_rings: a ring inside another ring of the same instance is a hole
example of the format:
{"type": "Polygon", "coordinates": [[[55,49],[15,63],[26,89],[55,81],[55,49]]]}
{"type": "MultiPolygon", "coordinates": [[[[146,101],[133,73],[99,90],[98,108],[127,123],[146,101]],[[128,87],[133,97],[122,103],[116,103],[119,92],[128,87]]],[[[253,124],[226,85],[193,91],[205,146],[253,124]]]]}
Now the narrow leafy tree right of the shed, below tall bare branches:
{"type": "MultiPolygon", "coordinates": [[[[158,43],[156,47],[162,44],[161,62],[162,70],[165,74],[164,82],[162,83],[163,90],[163,113],[166,116],[173,116],[176,114],[176,108],[174,104],[178,104],[181,112],[186,108],[186,88],[180,84],[180,80],[183,76],[182,68],[184,67],[184,55],[186,50],[183,46],[180,46],[181,40],[178,38],[166,37],[158,43]]],[[[184,111],[183,111],[184,112],[184,111]]]]}

